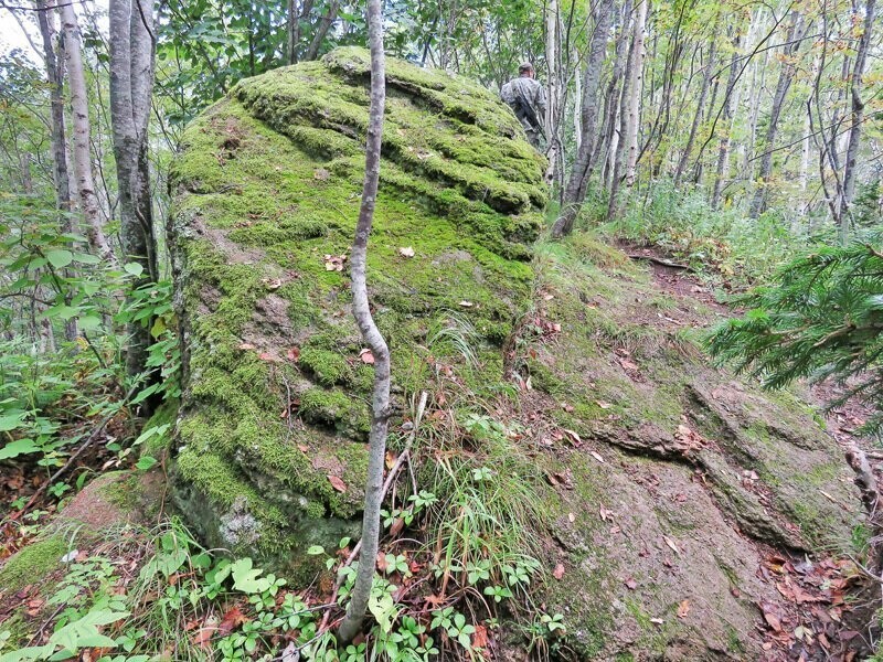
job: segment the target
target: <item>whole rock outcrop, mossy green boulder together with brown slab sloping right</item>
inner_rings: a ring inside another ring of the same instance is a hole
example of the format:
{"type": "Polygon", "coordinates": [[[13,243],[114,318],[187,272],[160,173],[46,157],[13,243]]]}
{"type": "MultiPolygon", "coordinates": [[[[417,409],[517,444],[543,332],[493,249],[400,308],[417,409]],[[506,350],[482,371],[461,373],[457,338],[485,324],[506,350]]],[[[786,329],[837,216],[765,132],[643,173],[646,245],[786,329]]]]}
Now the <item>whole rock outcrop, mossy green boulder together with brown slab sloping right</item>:
{"type": "MultiPolygon", "coordinates": [[[[758,605],[780,599],[764,554],[842,546],[860,508],[819,418],[709,367],[695,340],[714,311],[617,250],[534,248],[544,163],[494,95],[387,73],[369,284],[397,403],[439,378],[504,395],[494,416],[520,430],[507,442],[535,468],[562,570],[536,602],[564,613],[573,659],[759,659],[758,605]],[[449,376],[453,327],[478,367],[449,376]]],[[[245,81],[174,170],[172,493],[210,544],[290,574],[306,546],[358,532],[373,372],[345,253],[368,76],[348,49],[245,81]]]]}

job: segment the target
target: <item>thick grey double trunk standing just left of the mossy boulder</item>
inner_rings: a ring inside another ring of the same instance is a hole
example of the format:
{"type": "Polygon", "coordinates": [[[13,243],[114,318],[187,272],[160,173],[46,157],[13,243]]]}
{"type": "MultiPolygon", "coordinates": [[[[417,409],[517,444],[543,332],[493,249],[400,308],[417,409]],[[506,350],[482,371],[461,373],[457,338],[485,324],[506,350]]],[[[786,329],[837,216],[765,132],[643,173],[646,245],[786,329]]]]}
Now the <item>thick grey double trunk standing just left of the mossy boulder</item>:
{"type": "MultiPolygon", "coordinates": [[[[153,92],[152,0],[110,0],[110,124],[119,185],[119,221],[127,263],[141,274],[134,288],[157,280],[156,238],[147,159],[147,125],[153,92]]],[[[146,369],[150,323],[130,322],[126,372],[146,369]]]]}

